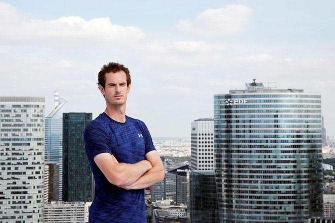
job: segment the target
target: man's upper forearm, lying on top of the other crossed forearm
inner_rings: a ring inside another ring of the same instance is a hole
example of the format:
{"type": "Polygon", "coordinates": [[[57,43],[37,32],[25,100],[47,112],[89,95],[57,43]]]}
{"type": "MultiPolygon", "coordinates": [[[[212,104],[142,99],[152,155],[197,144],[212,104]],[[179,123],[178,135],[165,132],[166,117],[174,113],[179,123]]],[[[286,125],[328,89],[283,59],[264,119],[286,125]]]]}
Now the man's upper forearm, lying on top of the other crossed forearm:
{"type": "Polygon", "coordinates": [[[143,173],[151,169],[151,167],[151,163],[145,159],[133,164],[123,162],[118,163],[115,169],[119,175],[117,186],[124,187],[132,184],[143,175],[143,173]]]}

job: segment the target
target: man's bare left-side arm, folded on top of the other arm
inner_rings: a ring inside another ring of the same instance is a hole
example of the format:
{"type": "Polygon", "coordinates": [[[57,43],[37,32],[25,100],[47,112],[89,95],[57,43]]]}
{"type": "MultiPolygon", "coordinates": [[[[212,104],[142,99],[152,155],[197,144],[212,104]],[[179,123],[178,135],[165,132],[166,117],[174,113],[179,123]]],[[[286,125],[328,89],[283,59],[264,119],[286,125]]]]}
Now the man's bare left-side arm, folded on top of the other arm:
{"type": "Polygon", "coordinates": [[[119,163],[108,152],[99,153],[93,159],[107,180],[122,188],[130,185],[144,172],[152,168],[151,163],[145,159],[133,164],[119,163]]]}

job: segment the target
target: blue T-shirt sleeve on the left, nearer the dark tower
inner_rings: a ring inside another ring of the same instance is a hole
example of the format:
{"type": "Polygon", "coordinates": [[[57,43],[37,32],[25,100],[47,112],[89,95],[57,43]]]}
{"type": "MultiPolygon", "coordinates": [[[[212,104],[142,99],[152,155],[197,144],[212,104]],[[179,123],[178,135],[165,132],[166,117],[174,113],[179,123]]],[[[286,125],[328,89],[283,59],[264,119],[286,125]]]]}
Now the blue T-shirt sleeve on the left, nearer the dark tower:
{"type": "Polygon", "coordinates": [[[106,129],[98,122],[90,122],[84,131],[84,143],[89,160],[93,161],[95,155],[108,152],[112,153],[109,146],[109,136],[106,129]]]}

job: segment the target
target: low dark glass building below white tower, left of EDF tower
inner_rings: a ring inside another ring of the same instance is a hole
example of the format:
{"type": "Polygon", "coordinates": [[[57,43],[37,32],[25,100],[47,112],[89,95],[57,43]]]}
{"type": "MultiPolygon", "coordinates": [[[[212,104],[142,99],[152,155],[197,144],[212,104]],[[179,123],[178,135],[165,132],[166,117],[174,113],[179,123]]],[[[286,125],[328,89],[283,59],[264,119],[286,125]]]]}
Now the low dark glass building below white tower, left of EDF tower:
{"type": "Polygon", "coordinates": [[[219,222],[214,171],[190,171],[188,209],[192,223],[219,222]]]}

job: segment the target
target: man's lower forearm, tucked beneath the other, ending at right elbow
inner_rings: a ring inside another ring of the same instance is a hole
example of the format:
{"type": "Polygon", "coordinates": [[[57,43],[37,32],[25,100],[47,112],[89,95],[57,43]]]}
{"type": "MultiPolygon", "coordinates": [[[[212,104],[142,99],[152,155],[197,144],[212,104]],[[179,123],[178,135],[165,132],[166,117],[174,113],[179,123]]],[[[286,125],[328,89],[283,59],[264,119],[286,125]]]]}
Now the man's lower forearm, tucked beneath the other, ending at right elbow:
{"type": "Polygon", "coordinates": [[[161,166],[153,166],[133,183],[121,187],[125,189],[142,189],[162,179],[164,179],[164,168],[161,166]]]}

